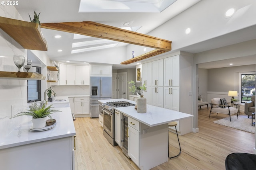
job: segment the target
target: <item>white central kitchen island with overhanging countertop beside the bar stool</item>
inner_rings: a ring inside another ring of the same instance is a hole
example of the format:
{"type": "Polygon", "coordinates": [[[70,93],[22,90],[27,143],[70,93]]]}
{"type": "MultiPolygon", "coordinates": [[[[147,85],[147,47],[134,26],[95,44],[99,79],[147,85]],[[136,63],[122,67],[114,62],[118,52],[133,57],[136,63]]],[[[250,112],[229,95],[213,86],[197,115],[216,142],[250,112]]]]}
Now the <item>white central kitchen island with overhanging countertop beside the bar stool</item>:
{"type": "MultiPolygon", "coordinates": [[[[126,99],[99,100],[102,103],[118,101],[135,104],[126,99]]],[[[187,113],[151,105],[147,105],[146,113],[137,113],[134,106],[116,107],[115,110],[128,116],[128,155],[141,170],[148,170],[168,161],[169,122],[183,120],[192,131],[193,115],[187,113]]]]}

